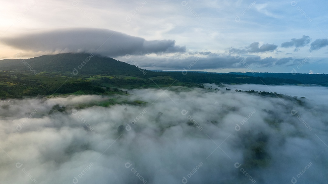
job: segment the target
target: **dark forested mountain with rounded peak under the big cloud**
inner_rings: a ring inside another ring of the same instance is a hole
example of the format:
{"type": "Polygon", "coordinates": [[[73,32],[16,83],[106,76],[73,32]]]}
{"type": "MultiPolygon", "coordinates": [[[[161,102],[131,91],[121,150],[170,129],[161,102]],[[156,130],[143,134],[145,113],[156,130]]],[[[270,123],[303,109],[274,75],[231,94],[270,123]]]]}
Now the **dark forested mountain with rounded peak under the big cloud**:
{"type": "Polygon", "coordinates": [[[139,68],[134,65],[120,62],[113,58],[87,53],[64,53],[44,55],[30,59],[0,60],[0,70],[2,71],[25,71],[30,70],[30,68],[36,73],[46,71],[71,72],[83,75],[108,74],[144,77],[139,68]]]}

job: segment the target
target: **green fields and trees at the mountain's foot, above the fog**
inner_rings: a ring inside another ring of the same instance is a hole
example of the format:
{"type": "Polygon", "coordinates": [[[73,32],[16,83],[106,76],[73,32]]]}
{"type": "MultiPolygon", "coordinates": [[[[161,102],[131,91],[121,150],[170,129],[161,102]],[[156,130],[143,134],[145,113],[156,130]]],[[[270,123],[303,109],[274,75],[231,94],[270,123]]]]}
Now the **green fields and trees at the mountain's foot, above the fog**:
{"type": "MultiPolygon", "coordinates": [[[[114,95],[127,94],[124,89],[167,88],[169,86],[197,86],[175,81],[169,76],[149,79],[127,75],[78,75],[66,76],[67,72],[6,71],[0,73],[0,98],[23,98],[49,95],[114,95]]],[[[113,102],[108,102],[112,104],[113,102]]],[[[116,103],[116,102],[115,102],[116,103]]],[[[133,102],[138,104],[138,102],[133,102]]],[[[107,105],[106,103],[103,105],[107,105]]]]}

